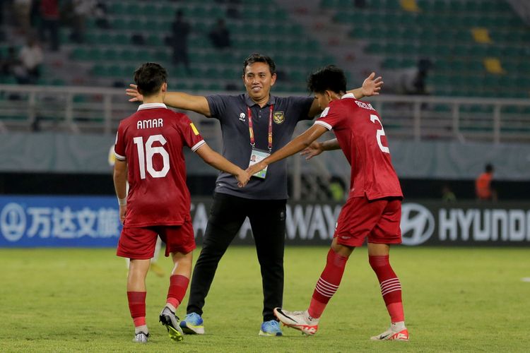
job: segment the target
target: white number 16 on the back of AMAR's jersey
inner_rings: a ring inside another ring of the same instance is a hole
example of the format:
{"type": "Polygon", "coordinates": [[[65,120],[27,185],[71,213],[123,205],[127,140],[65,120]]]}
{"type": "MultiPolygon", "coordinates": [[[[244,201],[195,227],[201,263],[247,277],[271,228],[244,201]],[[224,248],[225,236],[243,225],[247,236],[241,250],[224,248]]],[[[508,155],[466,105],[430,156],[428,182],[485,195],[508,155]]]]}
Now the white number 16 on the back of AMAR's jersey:
{"type": "Polygon", "coordinates": [[[162,135],[153,135],[149,136],[147,139],[145,149],[146,153],[143,153],[143,137],[133,138],[133,142],[136,145],[138,150],[138,162],[140,167],[140,178],[146,179],[146,170],[153,178],[163,178],[167,175],[167,172],[170,170],[170,155],[167,153],[167,150],[163,148],[163,145],[167,142],[162,135]],[[153,142],[158,141],[162,145],[158,147],[153,147],[153,142]],[[153,156],[155,154],[160,154],[162,156],[163,167],[160,170],[155,170],[153,168],[153,156]],[[147,168],[146,168],[147,160],[147,168]]]}

